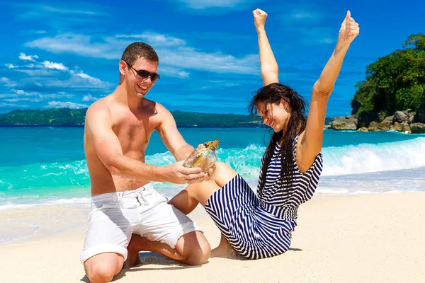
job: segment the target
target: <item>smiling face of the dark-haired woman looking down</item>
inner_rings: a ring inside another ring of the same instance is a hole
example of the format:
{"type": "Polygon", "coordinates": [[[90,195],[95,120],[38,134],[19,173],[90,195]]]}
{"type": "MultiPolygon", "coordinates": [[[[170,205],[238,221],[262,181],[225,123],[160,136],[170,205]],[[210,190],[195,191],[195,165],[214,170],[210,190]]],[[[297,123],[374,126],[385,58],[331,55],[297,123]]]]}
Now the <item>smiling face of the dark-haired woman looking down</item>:
{"type": "Polygon", "coordinates": [[[290,117],[290,106],[285,100],[280,103],[264,103],[260,101],[256,104],[256,111],[263,120],[264,124],[271,127],[274,132],[280,132],[285,129],[290,117]],[[289,112],[288,112],[289,111],[289,112]]]}

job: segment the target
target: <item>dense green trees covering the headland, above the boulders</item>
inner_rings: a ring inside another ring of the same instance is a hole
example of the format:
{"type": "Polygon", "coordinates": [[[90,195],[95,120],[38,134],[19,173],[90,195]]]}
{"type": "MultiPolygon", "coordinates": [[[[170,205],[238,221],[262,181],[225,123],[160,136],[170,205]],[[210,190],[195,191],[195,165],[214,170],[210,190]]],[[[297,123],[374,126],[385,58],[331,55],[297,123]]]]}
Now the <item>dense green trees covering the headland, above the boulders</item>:
{"type": "Polygon", "coordinates": [[[370,64],[366,74],[356,85],[353,114],[371,121],[397,110],[425,108],[425,35],[410,35],[403,49],[370,64]]]}

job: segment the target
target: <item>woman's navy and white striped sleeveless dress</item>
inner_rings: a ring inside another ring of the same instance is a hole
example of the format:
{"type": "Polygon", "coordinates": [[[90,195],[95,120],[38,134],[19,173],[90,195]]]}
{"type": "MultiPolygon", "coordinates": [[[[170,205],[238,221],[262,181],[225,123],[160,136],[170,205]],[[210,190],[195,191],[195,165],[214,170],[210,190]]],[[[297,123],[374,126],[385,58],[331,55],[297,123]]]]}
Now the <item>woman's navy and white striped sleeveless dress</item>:
{"type": "MultiPolygon", "coordinates": [[[[297,136],[293,149],[294,180],[291,190],[280,190],[280,145],[277,144],[266,173],[261,195],[236,175],[214,192],[205,205],[230,245],[244,258],[270,258],[285,253],[297,225],[297,209],[310,200],[322,173],[322,154],[317,155],[307,172],[301,173],[295,162],[297,136]]],[[[263,157],[264,158],[264,157],[263,157]]],[[[261,171],[264,168],[261,161],[261,171]]]]}

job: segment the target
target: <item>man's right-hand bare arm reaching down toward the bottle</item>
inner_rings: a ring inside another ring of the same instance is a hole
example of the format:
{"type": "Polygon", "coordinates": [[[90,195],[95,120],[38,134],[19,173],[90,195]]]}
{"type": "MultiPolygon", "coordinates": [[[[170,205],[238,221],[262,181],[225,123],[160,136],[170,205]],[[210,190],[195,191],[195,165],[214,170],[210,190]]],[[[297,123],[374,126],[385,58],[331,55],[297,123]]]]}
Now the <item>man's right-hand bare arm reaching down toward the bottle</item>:
{"type": "Polygon", "coordinates": [[[176,121],[169,110],[162,108],[162,112],[164,117],[161,125],[157,127],[159,136],[164,142],[166,148],[170,151],[174,158],[176,158],[176,161],[186,160],[186,158],[188,158],[188,156],[192,153],[193,146],[183,139],[177,129],[176,121]]]}

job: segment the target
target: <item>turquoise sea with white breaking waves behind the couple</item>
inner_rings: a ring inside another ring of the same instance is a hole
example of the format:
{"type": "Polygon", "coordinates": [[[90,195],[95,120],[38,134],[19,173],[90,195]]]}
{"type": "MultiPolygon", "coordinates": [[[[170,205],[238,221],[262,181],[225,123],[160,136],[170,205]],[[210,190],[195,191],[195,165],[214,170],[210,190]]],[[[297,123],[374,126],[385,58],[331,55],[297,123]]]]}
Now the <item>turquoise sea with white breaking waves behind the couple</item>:
{"type": "MultiPolygon", "coordinates": [[[[0,127],[0,209],[89,204],[83,128],[0,127]]],[[[263,128],[182,128],[189,144],[219,139],[219,160],[252,187],[268,133],[263,128]]],[[[324,171],[318,194],[425,192],[425,135],[324,131],[324,171]]],[[[147,163],[174,162],[155,132],[147,163]]],[[[184,186],[155,183],[167,197],[184,186]]]]}

